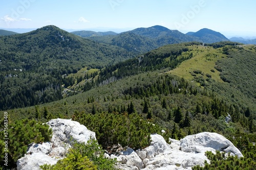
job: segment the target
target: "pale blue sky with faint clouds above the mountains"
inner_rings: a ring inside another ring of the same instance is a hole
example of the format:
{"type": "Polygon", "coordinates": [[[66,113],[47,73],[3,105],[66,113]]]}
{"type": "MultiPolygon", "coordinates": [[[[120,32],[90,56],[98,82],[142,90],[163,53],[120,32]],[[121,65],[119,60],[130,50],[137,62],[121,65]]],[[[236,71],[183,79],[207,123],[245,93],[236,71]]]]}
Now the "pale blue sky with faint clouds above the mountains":
{"type": "Polygon", "coordinates": [[[255,0],[0,0],[1,29],[115,31],[155,25],[182,33],[208,28],[256,37],[255,0]]]}

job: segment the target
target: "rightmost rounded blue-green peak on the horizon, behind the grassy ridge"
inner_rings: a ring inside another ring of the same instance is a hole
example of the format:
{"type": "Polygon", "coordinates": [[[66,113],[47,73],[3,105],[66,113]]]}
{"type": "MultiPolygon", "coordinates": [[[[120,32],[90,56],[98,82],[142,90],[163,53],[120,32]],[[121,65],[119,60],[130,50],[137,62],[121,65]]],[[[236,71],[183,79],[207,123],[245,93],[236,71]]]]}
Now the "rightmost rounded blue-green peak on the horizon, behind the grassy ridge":
{"type": "Polygon", "coordinates": [[[191,36],[199,37],[202,42],[213,43],[219,41],[229,41],[224,35],[219,32],[212,31],[209,29],[201,29],[198,32],[192,34],[191,36]]]}

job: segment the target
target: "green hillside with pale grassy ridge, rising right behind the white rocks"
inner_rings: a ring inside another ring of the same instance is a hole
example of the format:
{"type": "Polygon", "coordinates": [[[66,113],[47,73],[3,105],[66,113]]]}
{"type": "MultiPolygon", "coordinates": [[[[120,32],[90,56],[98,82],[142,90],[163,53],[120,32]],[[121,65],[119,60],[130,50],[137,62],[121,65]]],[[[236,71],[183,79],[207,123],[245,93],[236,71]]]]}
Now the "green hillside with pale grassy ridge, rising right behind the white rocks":
{"type": "Polygon", "coordinates": [[[72,118],[94,131],[108,151],[117,144],[145,148],[151,133],[180,139],[217,132],[251,160],[256,141],[255,56],[255,45],[234,42],[165,45],[103,68],[81,68],[65,77],[65,85],[80,92],[7,110],[9,122],[72,118]],[[232,122],[226,123],[228,114],[232,122]]]}

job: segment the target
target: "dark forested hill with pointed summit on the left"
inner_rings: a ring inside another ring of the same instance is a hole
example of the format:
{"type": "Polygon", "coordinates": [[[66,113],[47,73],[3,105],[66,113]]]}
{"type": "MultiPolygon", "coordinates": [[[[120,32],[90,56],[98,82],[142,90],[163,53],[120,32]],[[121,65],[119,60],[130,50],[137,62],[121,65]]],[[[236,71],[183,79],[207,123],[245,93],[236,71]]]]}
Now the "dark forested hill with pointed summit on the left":
{"type": "Polygon", "coordinates": [[[0,36],[0,110],[59,100],[61,75],[133,57],[123,48],[83,39],[55,26],[0,36]]]}

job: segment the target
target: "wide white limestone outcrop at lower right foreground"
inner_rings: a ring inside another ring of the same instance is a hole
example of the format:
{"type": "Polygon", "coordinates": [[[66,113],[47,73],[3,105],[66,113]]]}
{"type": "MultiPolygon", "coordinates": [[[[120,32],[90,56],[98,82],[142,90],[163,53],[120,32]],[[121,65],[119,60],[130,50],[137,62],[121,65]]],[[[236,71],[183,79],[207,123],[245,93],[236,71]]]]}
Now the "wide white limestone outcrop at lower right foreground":
{"type": "Polygon", "coordinates": [[[143,150],[133,151],[129,149],[128,153],[130,154],[121,152],[120,155],[111,155],[111,158],[117,158],[118,167],[125,170],[167,170],[191,169],[195,165],[203,166],[205,160],[209,162],[205,156],[206,151],[215,153],[216,150],[219,150],[226,153],[230,152],[238,157],[243,156],[229,140],[217,133],[203,132],[189,135],[180,141],[170,139],[171,144],[167,144],[164,138],[158,134],[152,134],[151,139],[151,145],[143,150]],[[135,164],[135,162],[137,163],[135,164]]]}

